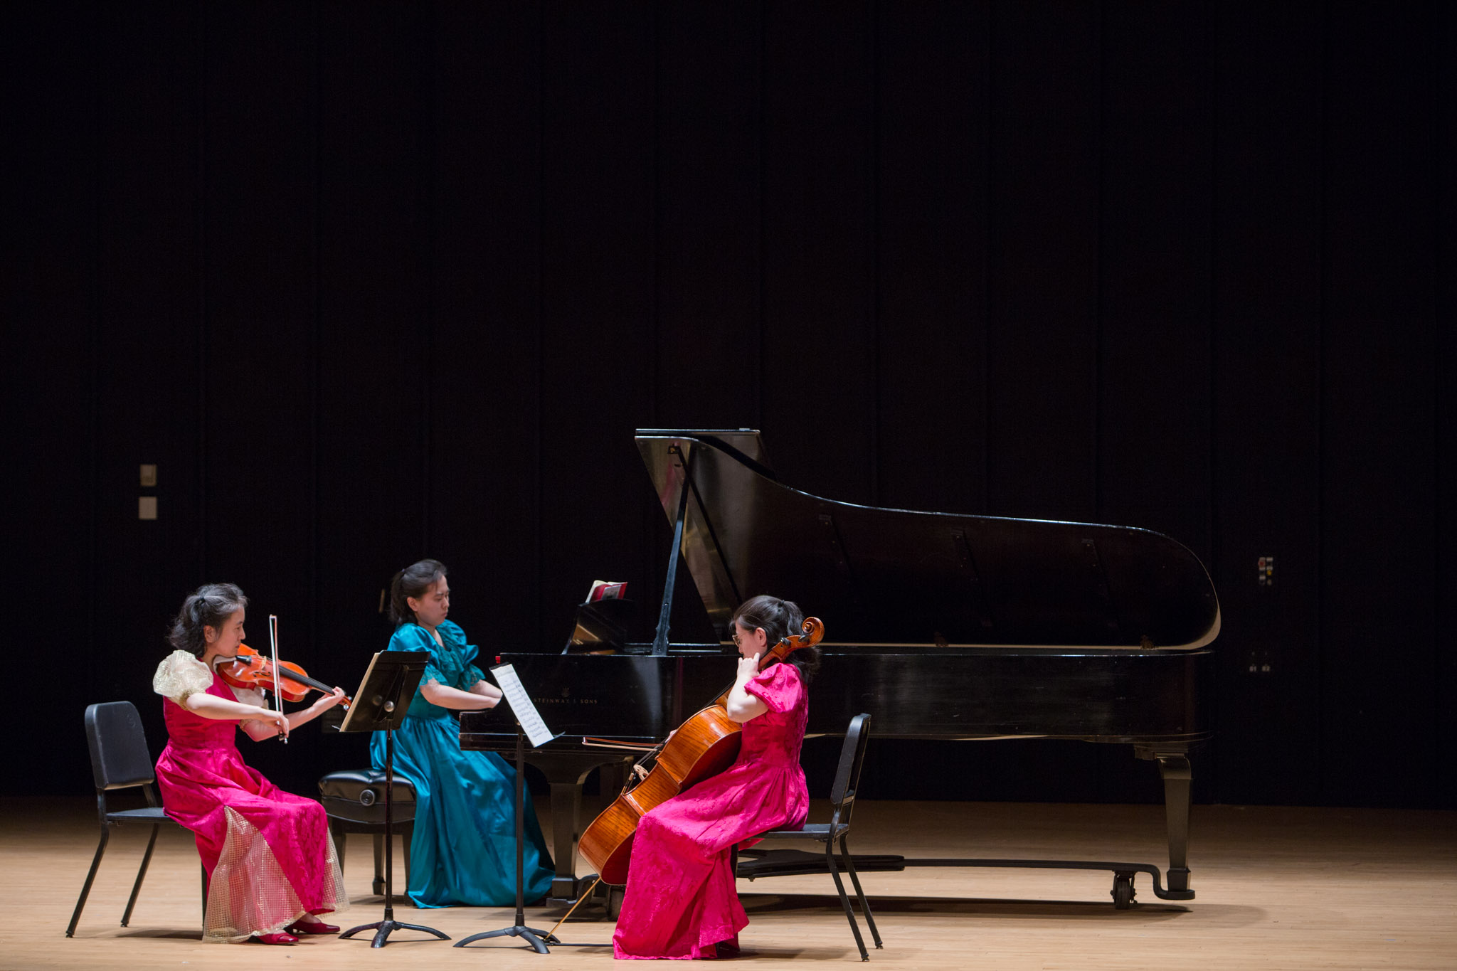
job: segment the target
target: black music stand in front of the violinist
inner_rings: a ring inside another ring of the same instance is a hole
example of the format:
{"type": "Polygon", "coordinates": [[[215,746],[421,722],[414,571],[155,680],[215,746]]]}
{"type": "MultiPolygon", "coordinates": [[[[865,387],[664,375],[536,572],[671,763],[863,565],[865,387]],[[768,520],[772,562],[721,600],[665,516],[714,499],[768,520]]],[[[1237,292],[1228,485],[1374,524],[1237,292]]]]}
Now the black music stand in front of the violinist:
{"type": "Polygon", "coordinates": [[[341,732],[385,732],[385,919],[372,924],[350,927],[339,938],[353,938],[361,930],[373,930],[372,948],[383,948],[390,932],[424,930],[440,940],[450,940],[434,927],[407,924],[395,920],[393,862],[395,844],[390,836],[395,790],[395,729],[405,721],[409,700],[415,696],[420,677],[425,673],[428,654],[424,651],[380,651],[364,671],[364,681],[354,693],[350,710],[339,725],[341,732]],[[404,702],[401,699],[405,699],[404,702]]]}

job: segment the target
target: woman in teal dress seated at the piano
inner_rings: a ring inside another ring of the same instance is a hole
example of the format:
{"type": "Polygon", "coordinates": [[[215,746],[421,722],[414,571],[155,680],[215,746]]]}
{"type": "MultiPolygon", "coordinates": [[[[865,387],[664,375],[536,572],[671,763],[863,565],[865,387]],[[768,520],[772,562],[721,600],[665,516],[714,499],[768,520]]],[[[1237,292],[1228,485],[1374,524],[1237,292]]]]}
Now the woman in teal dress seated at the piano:
{"type": "MultiPolygon", "coordinates": [[[[430,655],[420,689],[395,732],[395,773],[415,786],[409,844],[409,898],[417,907],[503,907],[516,903],[516,770],[495,753],[462,751],[452,710],[492,708],[500,689],[474,664],[476,648],[446,614],[446,568],[427,559],[402,569],[390,587],[390,651],[430,655]]],[[[385,732],[370,740],[385,769],[385,732]]],[[[526,793],[523,900],[551,888],[552,863],[526,793]]]]}

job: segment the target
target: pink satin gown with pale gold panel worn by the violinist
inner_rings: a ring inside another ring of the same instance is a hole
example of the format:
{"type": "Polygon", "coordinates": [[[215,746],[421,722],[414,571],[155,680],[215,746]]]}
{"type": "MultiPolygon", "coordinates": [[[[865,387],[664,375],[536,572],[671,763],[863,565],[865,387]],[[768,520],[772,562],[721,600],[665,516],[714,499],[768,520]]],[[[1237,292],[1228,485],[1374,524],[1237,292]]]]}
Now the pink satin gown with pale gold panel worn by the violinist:
{"type": "MultiPolygon", "coordinates": [[[[207,693],[236,700],[216,674],[207,693]]],[[[172,699],[162,708],[169,741],[157,785],[207,868],[204,940],[277,933],[306,913],[347,908],[323,806],[243,764],[236,721],[203,718],[172,699]]]]}

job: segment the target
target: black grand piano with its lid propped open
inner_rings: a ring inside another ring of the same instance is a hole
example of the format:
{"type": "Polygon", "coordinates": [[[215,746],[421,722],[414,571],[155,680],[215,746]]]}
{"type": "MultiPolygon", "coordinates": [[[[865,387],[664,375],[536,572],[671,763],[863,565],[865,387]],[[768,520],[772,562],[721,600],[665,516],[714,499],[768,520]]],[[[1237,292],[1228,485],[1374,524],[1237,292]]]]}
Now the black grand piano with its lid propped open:
{"type": "MultiPolygon", "coordinates": [[[[759,592],[825,620],[810,734],[844,734],[860,712],[876,738],[1059,738],[1131,745],[1163,777],[1169,868],[1118,860],[903,859],[857,868],[1106,869],[1116,907],[1135,875],[1157,897],[1189,887],[1189,747],[1209,737],[1201,686],[1220,604],[1199,559],[1160,533],[1120,526],[886,510],[822,499],[778,479],[758,431],[640,429],[637,447],[673,540],[651,643],[622,642],[606,604],[584,604],[561,654],[503,654],[561,737],[527,761],[552,788],[557,879],[574,900],[581,783],[654,744],[733,677],[728,623],[759,592]],[[717,642],[675,643],[679,562],[717,642]],[[1167,888],[1163,885],[1167,878],[1167,888]]],[[[460,718],[462,748],[508,751],[503,709],[460,718]]],[[[871,756],[873,757],[873,756],[871,756]]],[[[740,876],[809,872],[813,855],[740,860],[740,876]]]]}

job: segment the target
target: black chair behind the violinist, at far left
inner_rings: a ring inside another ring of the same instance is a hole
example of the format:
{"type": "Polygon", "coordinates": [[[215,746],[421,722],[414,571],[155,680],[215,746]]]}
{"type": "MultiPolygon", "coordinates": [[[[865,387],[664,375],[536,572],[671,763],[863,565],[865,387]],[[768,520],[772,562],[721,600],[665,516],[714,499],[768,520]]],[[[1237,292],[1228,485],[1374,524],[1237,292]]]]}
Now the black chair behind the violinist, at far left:
{"type": "MultiPolygon", "coordinates": [[[[157,843],[157,830],[163,823],[181,825],[168,817],[157,798],[152,792],[152,753],[147,751],[147,737],[141,729],[141,718],[131,702],[108,702],[105,705],[86,706],[86,744],[92,754],[92,776],[96,782],[96,815],[101,820],[101,841],[96,844],[96,857],[92,860],[90,872],[86,873],[86,885],[82,887],[80,900],[76,901],[76,913],[66,929],[66,936],[76,933],[76,923],[82,919],[86,907],[86,897],[96,881],[96,871],[101,868],[101,857],[106,852],[106,840],[111,839],[111,827],[122,823],[150,823],[152,839],[147,840],[147,852],[141,857],[141,869],[137,871],[137,882],[131,887],[131,898],[127,900],[127,913],[121,916],[121,926],[131,920],[131,908],[137,905],[137,894],[141,891],[141,881],[147,875],[147,863],[152,862],[152,847],[157,843]],[[117,789],[134,789],[141,786],[147,798],[146,808],[121,809],[111,812],[106,809],[106,793],[117,789]]],[[[203,869],[203,913],[207,913],[207,869],[203,869]]]]}

